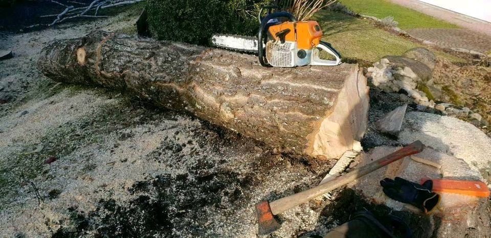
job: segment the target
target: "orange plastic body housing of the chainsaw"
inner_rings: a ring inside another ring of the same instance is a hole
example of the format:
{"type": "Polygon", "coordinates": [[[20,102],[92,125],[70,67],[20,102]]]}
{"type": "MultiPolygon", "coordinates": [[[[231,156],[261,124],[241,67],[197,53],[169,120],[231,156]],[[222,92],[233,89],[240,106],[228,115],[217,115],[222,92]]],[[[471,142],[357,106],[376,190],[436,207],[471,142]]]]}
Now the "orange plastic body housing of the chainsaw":
{"type": "Polygon", "coordinates": [[[298,49],[313,49],[321,42],[322,30],[317,21],[286,21],[272,25],[268,31],[275,40],[280,40],[278,32],[290,30],[285,36],[286,41],[297,42],[298,49]]]}

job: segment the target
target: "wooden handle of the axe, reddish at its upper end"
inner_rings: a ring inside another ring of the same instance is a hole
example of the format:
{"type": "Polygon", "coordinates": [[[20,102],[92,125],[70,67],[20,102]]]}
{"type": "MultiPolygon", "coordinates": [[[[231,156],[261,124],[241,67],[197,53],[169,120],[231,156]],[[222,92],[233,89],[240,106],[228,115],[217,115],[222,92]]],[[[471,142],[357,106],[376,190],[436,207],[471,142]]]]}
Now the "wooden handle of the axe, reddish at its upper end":
{"type": "Polygon", "coordinates": [[[423,144],[420,141],[415,141],[400,150],[397,150],[387,156],[384,156],[383,158],[380,158],[379,160],[376,160],[359,169],[355,169],[336,179],[320,184],[317,187],[270,202],[271,212],[274,215],[283,213],[283,211],[285,210],[298,206],[306,201],[309,201],[310,199],[316,198],[331,190],[342,187],[359,177],[362,177],[370,172],[380,169],[392,162],[400,160],[401,158],[404,158],[411,154],[417,154],[422,150],[423,150],[423,144]]]}

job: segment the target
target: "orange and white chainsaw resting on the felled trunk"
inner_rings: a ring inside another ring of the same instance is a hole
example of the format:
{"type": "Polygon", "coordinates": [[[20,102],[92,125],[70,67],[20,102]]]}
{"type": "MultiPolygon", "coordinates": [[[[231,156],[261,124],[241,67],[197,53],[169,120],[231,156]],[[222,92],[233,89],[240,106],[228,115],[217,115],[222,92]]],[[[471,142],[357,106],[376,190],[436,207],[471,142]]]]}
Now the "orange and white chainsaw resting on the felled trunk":
{"type": "Polygon", "coordinates": [[[277,6],[263,7],[258,15],[260,23],[256,37],[235,35],[213,35],[213,45],[259,56],[265,67],[296,67],[305,65],[334,66],[341,63],[341,55],[329,43],[321,41],[323,36],[317,21],[297,21],[288,12],[277,6]],[[268,12],[262,16],[263,10],[268,12]],[[320,51],[324,50],[336,60],[322,60],[320,51]]]}

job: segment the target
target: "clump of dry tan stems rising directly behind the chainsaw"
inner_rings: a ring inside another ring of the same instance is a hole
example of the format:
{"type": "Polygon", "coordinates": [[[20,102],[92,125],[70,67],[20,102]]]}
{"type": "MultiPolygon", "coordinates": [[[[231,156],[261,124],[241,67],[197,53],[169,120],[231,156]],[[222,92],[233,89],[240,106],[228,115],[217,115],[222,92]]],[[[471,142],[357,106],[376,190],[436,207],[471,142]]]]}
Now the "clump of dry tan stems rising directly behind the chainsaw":
{"type": "Polygon", "coordinates": [[[337,0],[278,0],[278,6],[291,12],[297,20],[304,21],[336,2],[337,0]]]}

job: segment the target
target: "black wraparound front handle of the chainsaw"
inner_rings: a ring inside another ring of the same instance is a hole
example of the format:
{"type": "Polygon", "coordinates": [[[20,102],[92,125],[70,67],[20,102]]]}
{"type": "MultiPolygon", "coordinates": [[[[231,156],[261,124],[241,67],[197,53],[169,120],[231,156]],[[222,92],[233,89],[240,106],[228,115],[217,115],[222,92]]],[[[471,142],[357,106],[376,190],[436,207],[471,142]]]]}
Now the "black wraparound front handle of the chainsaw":
{"type": "MultiPolygon", "coordinates": [[[[263,9],[267,9],[267,8],[269,7],[264,7],[263,9]]],[[[261,15],[259,15],[259,18],[260,16],[261,15]]],[[[262,42],[264,42],[264,44],[266,44],[267,42],[267,34],[266,34],[267,28],[271,24],[277,24],[277,22],[269,23],[269,21],[271,19],[276,19],[276,18],[288,18],[289,21],[297,21],[297,18],[295,18],[291,13],[288,12],[275,12],[275,13],[268,14],[264,18],[260,19],[261,27],[259,28],[259,33],[257,34],[257,42],[258,42],[257,52],[259,55],[259,63],[261,63],[261,65],[264,67],[271,67],[271,65],[267,63],[264,58],[264,50],[262,47],[262,42]]]]}

